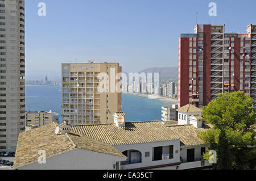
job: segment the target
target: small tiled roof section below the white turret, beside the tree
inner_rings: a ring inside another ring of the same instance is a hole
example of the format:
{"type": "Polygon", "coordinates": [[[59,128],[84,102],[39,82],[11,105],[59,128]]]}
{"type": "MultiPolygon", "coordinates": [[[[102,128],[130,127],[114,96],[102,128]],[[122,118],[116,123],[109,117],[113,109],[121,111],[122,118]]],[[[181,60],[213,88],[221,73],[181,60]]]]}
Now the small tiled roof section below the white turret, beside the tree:
{"type": "Polygon", "coordinates": [[[203,145],[204,142],[197,137],[201,132],[207,131],[204,128],[196,128],[193,125],[167,126],[170,134],[180,138],[180,146],[203,145]]]}

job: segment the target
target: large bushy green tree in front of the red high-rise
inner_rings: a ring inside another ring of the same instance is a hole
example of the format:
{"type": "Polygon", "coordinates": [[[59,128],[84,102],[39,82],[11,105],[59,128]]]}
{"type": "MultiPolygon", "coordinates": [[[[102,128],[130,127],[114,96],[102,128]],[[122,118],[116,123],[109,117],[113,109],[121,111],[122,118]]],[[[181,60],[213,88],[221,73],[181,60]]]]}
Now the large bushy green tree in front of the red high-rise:
{"type": "MultiPolygon", "coordinates": [[[[208,150],[217,151],[217,166],[214,168],[224,169],[226,155],[230,154],[225,169],[245,169],[248,164],[255,165],[255,148],[248,148],[248,145],[255,144],[254,125],[255,113],[253,100],[244,95],[244,92],[225,92],[218,94],[218,98],[203,107],[202,115],[204,120],[213,125],[212,129],[199,134],[199,138],[209,144],[208,150]],[[220,147],[225,145],[228,150],[220,147]],[[218,152],[220,152],[218,156],[218,152]]],[[[204,155],[209,158],[208,154],[204,155]]]]}

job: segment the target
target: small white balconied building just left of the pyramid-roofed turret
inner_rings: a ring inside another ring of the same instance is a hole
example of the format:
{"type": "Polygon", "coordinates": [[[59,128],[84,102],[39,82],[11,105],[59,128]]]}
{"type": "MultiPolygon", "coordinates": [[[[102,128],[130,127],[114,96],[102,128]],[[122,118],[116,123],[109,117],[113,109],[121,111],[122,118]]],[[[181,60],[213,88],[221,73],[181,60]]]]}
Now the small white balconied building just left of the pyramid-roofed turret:
{"type": "Polygon", "coordinates": [[[173,104],[172,107],[162,107],[162,121],[177,121],[177,104],[173,104]]]}

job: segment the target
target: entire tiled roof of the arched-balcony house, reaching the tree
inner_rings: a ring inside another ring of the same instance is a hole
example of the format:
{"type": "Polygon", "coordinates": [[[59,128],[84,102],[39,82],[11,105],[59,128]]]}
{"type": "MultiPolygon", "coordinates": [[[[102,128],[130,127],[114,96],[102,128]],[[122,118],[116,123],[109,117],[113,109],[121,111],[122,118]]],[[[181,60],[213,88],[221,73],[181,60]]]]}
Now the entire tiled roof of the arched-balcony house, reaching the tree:
{"type": "Polygon", "coordinates": [[[177,125],[177,121],[142,121],[126,123],[125,127],[117,127],[115,124],[73,125],[71,130],[109,145],[170,140],[181,140],[181,145],[200,145],[204,142],[197,138],[197,134],[207,129],[177,125]]]}

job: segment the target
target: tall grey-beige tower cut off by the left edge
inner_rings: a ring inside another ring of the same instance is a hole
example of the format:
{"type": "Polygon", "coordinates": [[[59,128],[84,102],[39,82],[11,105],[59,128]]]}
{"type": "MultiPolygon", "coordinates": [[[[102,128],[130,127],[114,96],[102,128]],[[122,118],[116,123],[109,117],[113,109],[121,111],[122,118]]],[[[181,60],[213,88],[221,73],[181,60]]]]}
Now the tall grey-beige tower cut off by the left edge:
{"type": "Polygon", "coordinates": [[[25,130],[24,0],[0,1],[0,151],[15,151],[25,130]]]}

